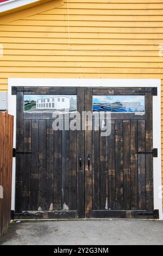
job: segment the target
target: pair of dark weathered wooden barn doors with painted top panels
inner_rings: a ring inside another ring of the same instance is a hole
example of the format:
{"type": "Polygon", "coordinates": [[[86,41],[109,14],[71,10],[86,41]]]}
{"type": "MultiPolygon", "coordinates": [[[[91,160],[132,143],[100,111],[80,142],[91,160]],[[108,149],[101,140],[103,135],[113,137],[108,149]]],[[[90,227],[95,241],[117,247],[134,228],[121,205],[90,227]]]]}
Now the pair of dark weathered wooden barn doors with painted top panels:
{"type": "Polygon", "coordinates": [[[16,218],[154,217],[152,88],[17,87],[16,95],[16,218]],[[53,112],[36,109],[46,96],[68,97],[81,115],[93,99],[141,96],[145,111],[125,112],[117,101],[109,136],[95,118],[92,130],[65,129],[65,117],[54,130],[53,112]]]}

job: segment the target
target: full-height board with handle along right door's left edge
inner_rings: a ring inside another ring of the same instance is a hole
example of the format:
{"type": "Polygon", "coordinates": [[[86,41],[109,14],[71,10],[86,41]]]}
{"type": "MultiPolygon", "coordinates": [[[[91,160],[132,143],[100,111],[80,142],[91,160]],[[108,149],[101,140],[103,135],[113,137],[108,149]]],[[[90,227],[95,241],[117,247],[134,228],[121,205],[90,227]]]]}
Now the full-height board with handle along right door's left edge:
{"type": "MultiPolygon", "coordinates": [[[[92,88],[85,88],[85,110],[92,111],[92,88]]],[[[89,121],[86,120],[85,131],[85,217],[91,217],[92,210],[92,130],[88,130],[89,121]],[[90,168],[87,156],[90,155],[90,168]]]]}

